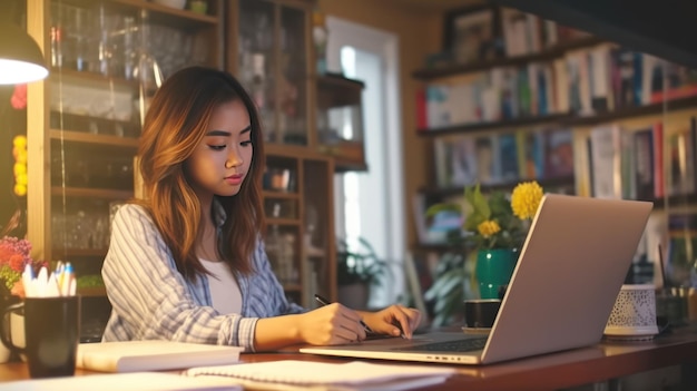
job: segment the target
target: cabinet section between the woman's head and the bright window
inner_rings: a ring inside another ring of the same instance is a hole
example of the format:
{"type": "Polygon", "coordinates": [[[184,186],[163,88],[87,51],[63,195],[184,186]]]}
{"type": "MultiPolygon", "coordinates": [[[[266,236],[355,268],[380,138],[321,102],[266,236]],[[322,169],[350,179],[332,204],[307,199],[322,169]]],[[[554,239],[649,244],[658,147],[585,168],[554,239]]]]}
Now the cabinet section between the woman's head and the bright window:
{"type": "Polygon", "coordinates": [[[267,168],[266,250],[288,297],[336,299],[331,155],[317,151],[311,45],[313,1],[233,0],[227,9],[228,69],[259,108],[267,168]]]}

